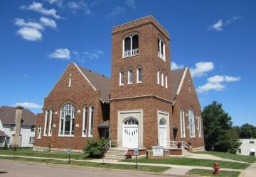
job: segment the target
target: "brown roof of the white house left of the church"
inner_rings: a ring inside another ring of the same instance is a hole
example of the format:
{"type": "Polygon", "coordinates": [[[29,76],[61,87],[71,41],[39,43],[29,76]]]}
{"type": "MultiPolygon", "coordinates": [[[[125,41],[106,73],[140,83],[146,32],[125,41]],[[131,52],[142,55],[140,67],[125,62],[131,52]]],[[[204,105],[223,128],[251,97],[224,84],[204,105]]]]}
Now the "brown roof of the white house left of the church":
{"type": "MultiPolygon", "coordinates": [[[[0,120],[2,124],[10,125],[15,123],[16,108],[11,106],[0,107],[0,120]]],[[[21,119],[23,120],[21,125],[36,125],[36,115],[28,109],[22,110],[21,119]]]]}

